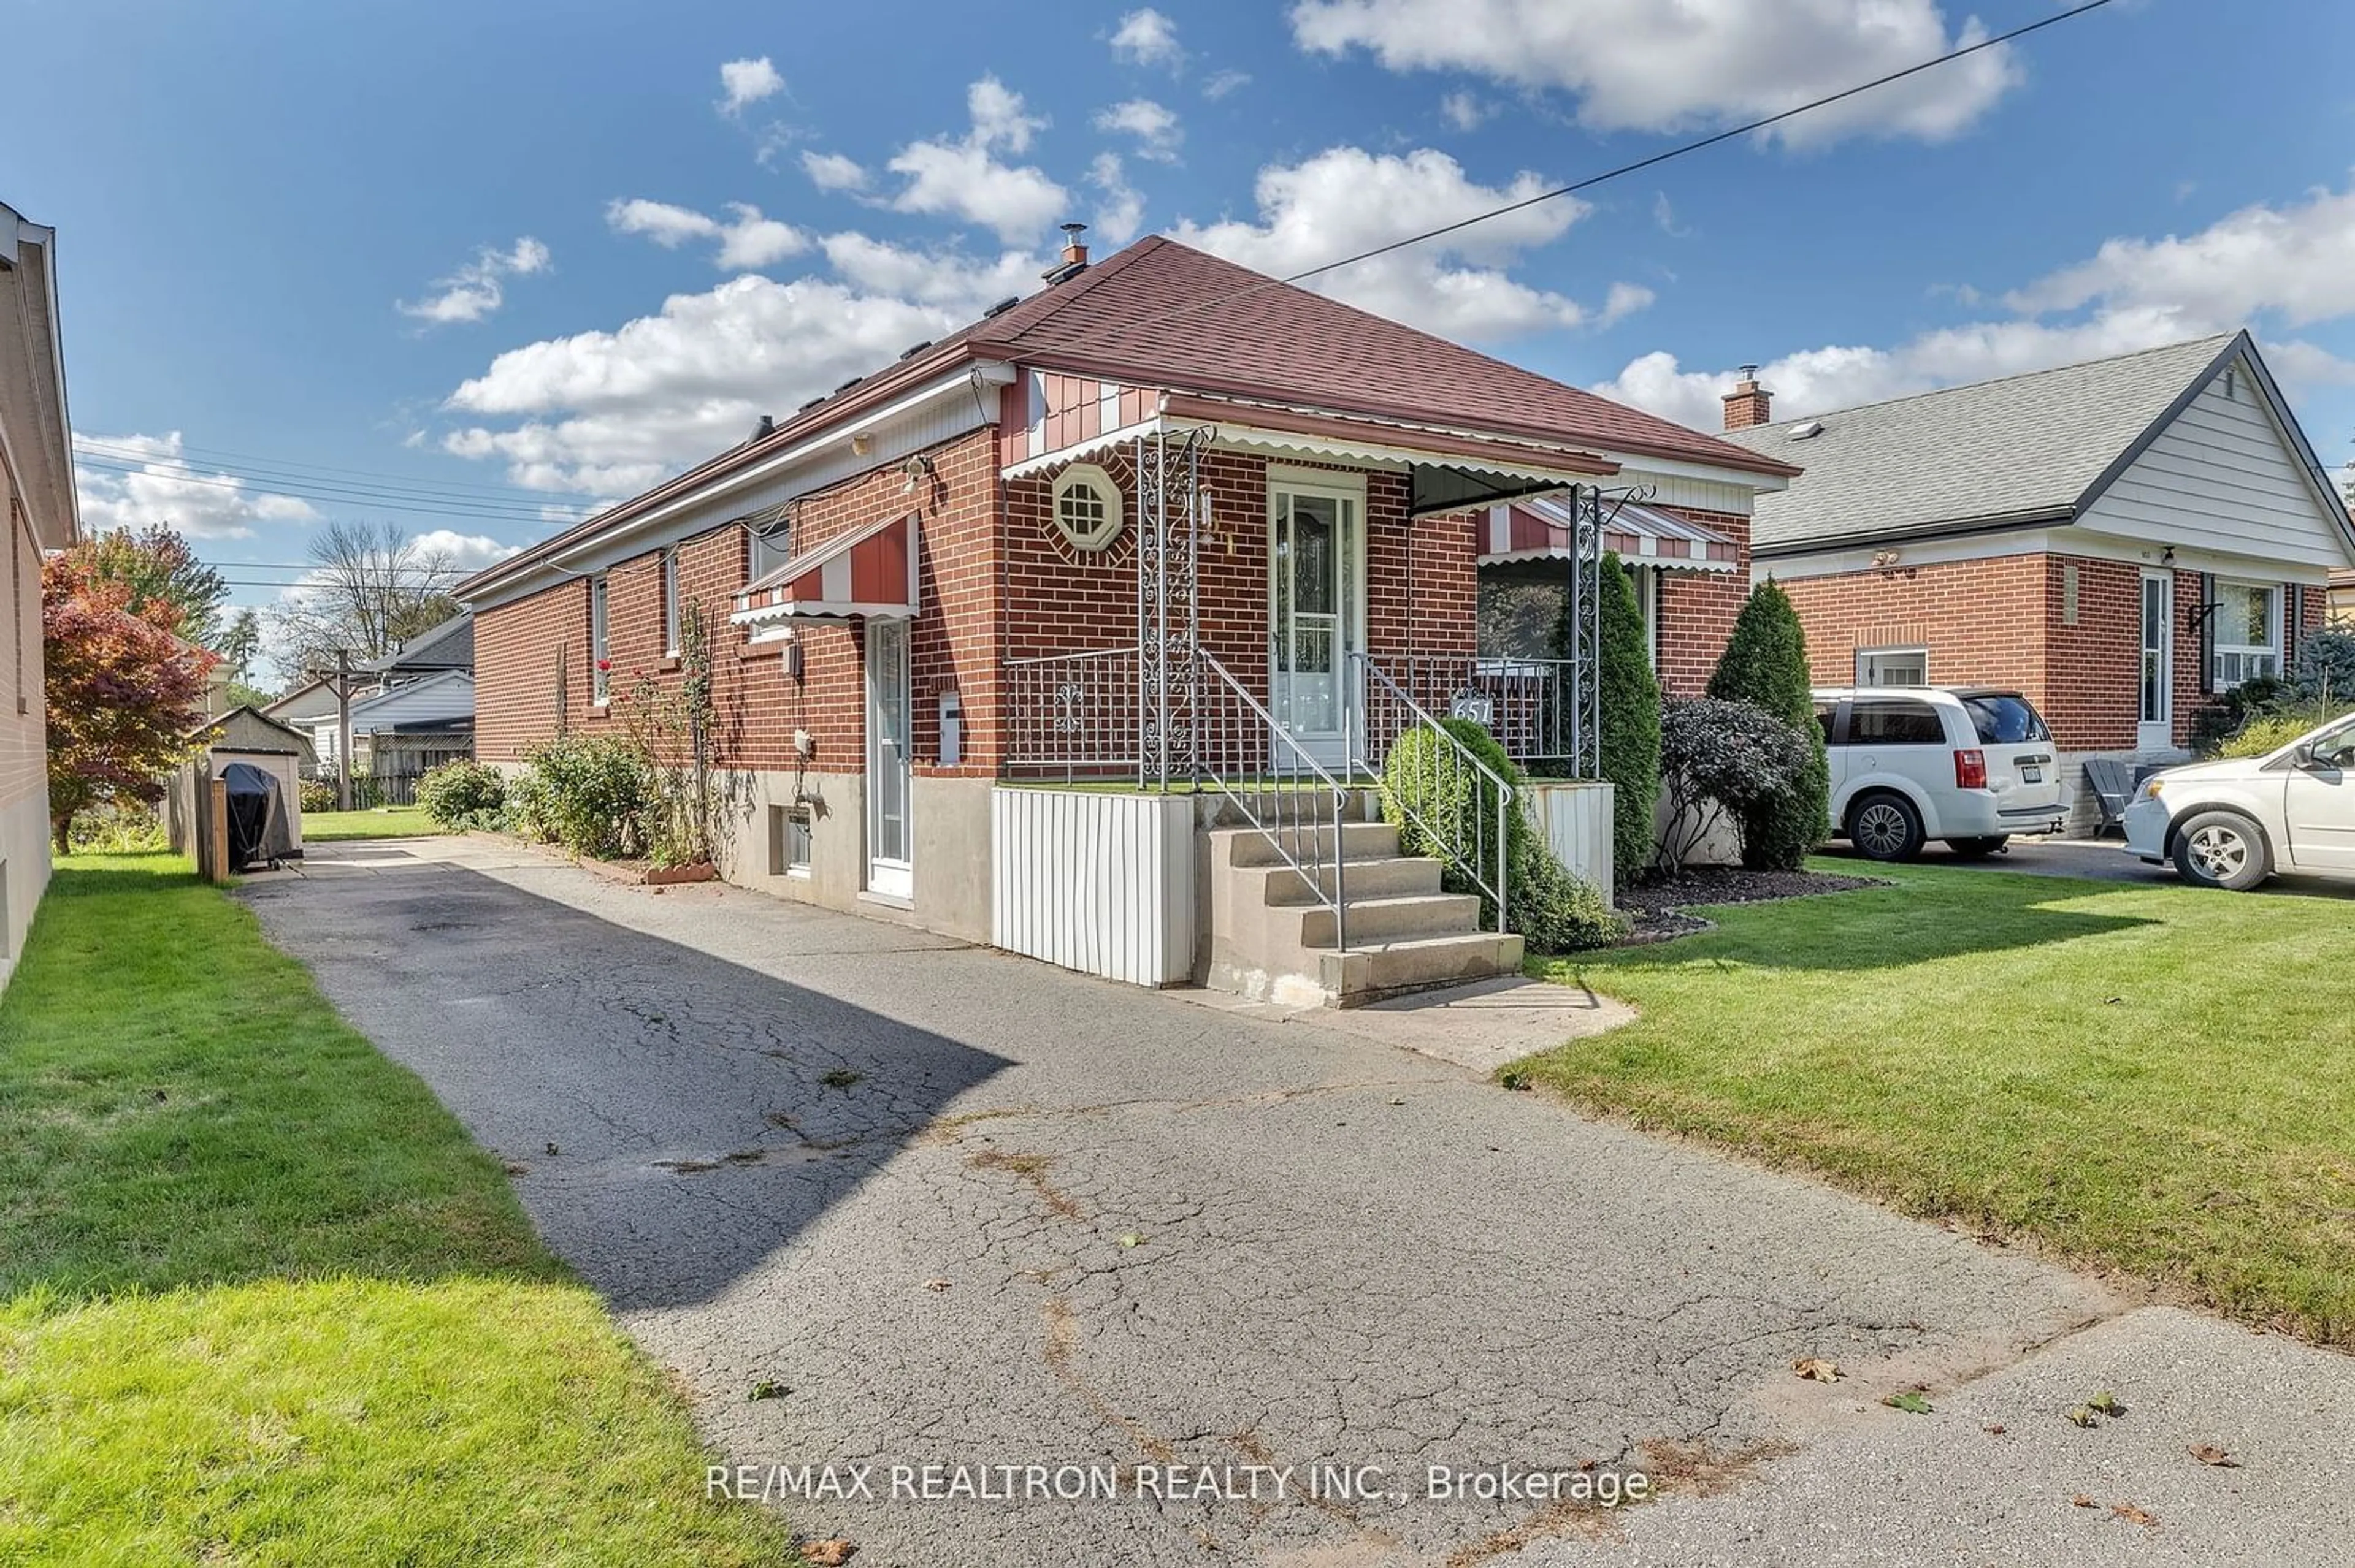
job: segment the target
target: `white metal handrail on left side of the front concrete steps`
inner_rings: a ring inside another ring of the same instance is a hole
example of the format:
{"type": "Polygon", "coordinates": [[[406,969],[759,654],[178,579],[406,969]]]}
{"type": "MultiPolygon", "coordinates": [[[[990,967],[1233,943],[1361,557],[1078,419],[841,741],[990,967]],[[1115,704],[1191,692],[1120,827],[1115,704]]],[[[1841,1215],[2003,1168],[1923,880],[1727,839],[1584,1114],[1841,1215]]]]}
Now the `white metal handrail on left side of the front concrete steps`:
{"type": "Polygon", "coordinates": [[[1210,690],[1203,692],[1203,711],[1196,713],[1194,730],[1194,777],[1243,812],[1243,819],[1274,845],[1276,855],[1307,885],[1309,895],[1333,911],[1333,946],[1349,949],[1349,899],[1342,888],[1342,864],[1347,845],[1342,824],[1349,812],[1349,791],[1326,768],[1300,749],[1291,730],[1276,723],[1258,697],[1253,697],[1234,673],[1208,650],[1201,652],[1203,669],[1210,671],[1210,690]],[[1251,763],[1265,758],[1265,763],[1251,763]],[[1234,777],[1229,777],[1229,772],[1234,777]],[[1269,789],[1243,789],[1246,777],[1265,777],[1269,789]],[[1333,805],[1333,890],[1326,892],[1324,829],[1319,810],[1333,805]]]}

